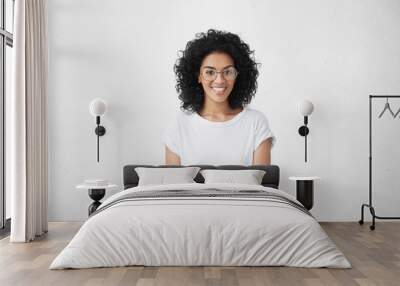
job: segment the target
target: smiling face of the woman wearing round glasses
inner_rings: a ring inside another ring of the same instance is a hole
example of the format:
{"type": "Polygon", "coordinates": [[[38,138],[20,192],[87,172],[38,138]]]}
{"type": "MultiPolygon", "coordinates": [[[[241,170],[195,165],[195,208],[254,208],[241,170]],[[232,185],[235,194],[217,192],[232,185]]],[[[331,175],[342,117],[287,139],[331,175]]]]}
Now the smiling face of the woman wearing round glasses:
{"type": "Polygon", "coordinates": [[[235,78],[234,62],[228,54],[213,52],[203,59],[199,83],[203,86],[206,100],[215,103],[227,101],[235,85],[235,78]]]}

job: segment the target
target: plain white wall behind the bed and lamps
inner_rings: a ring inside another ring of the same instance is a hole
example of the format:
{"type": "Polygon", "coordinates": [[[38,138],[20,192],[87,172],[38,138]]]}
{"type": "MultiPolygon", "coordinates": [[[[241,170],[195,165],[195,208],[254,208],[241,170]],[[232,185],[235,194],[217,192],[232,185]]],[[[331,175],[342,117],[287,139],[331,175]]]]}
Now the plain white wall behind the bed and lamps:
{"type": "MultiPolygon", "coordinates": [[[[262,64],[252,107],[278,138],[272,156],[281,188],[294,193],[291,175],[320,176],[312,213],[359,219],[368,198],[368,95],[400,94],[399,1],[50,0],[48,7],[50,220],[87,217],[87,192],[75,190],[85,178],[122,186],[123,165],[163,163],[161,134],[179,107],[177,51],[208,28],[239,34],[262,64]],[[100,163],[88,111],[96,97],[109,104],[100,163]],[[315,104],[308,163],[297,134],[302,98],[315,104]]],[[[400,100],[392,104],[397,110],[400,100]]],[[[374,125],[380,215],[399,212],[399,125],[389,118],[374,125]]]]}

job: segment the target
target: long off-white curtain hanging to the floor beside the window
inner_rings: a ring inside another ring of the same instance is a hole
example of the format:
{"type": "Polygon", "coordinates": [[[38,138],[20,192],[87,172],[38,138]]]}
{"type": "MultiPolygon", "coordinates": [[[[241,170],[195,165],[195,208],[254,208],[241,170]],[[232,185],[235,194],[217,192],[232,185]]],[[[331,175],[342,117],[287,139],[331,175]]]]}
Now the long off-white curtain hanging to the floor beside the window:
{"type": "Polygon", "coordinates": [[[13,91],[6,133],[10,241],[27,242],[47,232],[48,225],[46,0],[16,0],[14,13],[13,91]]]}

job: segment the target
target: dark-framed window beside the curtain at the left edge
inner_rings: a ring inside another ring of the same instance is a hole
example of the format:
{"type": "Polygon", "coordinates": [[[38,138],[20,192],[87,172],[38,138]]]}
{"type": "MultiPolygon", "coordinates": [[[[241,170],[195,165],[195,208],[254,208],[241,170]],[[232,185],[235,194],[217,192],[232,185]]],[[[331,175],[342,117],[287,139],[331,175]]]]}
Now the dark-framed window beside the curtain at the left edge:
{"type": "Polygon", "coordinates": [[[10,222],[10,194],[5,193],[5,106],[11,92],[14,0],[0,0],[0,228],[1,234],[10,222]]]}

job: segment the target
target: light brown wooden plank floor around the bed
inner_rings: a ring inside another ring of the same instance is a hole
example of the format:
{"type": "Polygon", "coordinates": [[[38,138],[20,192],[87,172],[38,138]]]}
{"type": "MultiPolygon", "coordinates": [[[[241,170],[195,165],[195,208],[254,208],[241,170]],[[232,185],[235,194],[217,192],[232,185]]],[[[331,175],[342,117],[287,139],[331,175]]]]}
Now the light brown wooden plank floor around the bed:
{"type": "Polygon", "coordinates": [[[322,223],[352,269],[290,267],[119,267],[48,270],[80,223],[50,223],[32,243],[0,241],[0,285],[400,285],[400,223],[322,223]]]}

